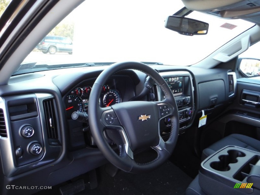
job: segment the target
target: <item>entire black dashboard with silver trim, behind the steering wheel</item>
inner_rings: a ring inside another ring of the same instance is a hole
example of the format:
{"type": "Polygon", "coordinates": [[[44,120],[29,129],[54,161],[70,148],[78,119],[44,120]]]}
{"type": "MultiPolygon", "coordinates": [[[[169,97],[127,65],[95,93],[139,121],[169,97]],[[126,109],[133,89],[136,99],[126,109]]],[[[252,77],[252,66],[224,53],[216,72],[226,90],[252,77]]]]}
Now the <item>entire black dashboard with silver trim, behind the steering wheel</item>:
{"type": "MultiPolygon", "coordinates": [[[[224,108],[235,95],[236,79],[229,70],[151,67],[165,79],[174,94],[180,133],[197,125],[202,109],[205,114],[217,115],[218,108],[224,108]]],[[[24,74],[11,77],[8,85],[0,86],[1,164],[3,176],[9,178],[1,180],[6,184],[12,181],[12,184],[25,185],[30,181],[32,185],[55,185],[107,162],[95,145],[88,123],[71,118],[73,112],[88,112],[89,94],[104,68],[24,74]],[[22,183],[21,178],[24,178],[22,183]]],[[[102,86],[100,107],[135,100],[163,100],[161,89],[156,83],[147,86],[147,79],[146,74],[137,70],[118,72],[102,86]]],[[[160,122],[165,139],[170,136],[170,126],[168,118],[160,122]]]]}

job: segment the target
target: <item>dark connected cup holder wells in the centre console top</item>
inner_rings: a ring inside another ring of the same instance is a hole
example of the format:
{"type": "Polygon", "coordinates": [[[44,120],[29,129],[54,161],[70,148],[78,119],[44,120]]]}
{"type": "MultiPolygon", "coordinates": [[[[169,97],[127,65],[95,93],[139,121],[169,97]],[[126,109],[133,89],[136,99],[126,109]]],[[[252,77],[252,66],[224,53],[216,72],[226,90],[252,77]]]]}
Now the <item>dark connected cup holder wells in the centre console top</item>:
{"type": "Polygon", "coordinates": [[[220,155],[219,161],[210,163],[210,167],[217,171],[229,171],[231,163],[236,163],[237,157],[245,157],[245,153],[238,150],[229,150],[228,154],[220,155]]]}

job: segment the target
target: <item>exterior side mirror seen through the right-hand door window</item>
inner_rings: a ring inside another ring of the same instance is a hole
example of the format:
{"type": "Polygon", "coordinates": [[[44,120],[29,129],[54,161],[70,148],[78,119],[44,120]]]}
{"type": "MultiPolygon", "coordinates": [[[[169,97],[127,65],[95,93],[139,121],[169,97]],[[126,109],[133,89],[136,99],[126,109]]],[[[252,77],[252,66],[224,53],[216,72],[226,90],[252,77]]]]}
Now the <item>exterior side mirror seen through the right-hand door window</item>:
{"type": "Polygon", "coordinates": [[[240,61],[239,69],[246,76],[259,76],[260,75],[260,60],[243,58],[240,61]]]}

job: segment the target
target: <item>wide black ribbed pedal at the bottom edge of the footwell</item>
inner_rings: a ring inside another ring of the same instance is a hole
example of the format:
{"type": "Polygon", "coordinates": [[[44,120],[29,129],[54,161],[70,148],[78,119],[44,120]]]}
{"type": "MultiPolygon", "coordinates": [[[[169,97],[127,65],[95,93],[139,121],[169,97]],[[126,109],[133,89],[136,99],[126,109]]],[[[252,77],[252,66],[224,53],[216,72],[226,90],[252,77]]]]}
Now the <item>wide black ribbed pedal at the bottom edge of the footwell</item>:
{"type": "Polygon", "coordinates": [[[61,195],[74,195],[83,190],[85,190],[83,179],[74,181],[73,183],[60,187],[61,195]]]}

